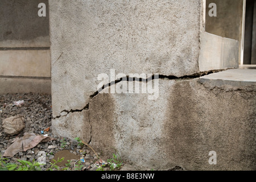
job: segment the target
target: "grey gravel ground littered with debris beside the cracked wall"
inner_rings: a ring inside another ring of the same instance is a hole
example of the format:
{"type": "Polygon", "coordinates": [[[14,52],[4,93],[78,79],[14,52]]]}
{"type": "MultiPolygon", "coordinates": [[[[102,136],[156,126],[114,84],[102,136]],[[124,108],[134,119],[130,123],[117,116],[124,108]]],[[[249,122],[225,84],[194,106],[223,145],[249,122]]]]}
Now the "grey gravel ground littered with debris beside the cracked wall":
{"type": "MultiPolygon", "coordinates": [[[[61,138],[55,136],[51,133],[51,118],[52,118],[52,108],[51,108],[51,96],[46,94],[5,94],[0,95],[0,156],[3,155],[7,147],[10,146],[11,142],[15,138],[23,137],[24,133],[35,133],[38,135],[48,134],[49,137],[55,138],[56,140],[51,140],[49,142],[40,142],[36,147],[27,150],[26,152],[18,152],[13,158],[5,157],[8,160],[7,163],[18,163],[17,160],[27,160],[32,162],[34,159],[38,159],[38,152],[46,152],[46,165],[42,166],[42,171],[51,167],[52,159],[55,159],[55,154],[59,151],[70,151],[72,154],[77,155],[78,160],[72,160],[71,166],[68,170],[96,170],[96,164],[98,164],[98,159],[96,155],[90,150],[89,147],[81,147],[76,140],[69,140],[67,138],[61,138]],[[14,101],[24,100],[22,106],[15,106],[14,101]],[[3,133],[2,121],[5,118],[23,115],[26,127],[20,131],[19,134],[14,136],[7,136],[3,133]],[[48,132],[41,131],[50,127],[48,132]],[[51,149],[49,146],[55,146],[51,149]],[[84,157],[85,162],[81,163],[80,169],[75,169],[75,165],[79,164],[80,157],[84,157]]],[[[100,155],[100,154],[98,154],[100,155]]],[[[66,167],[60,166],[60,169],[66,167]]],[[[105,168],[108,170],[108,168],[105,168]]]]}

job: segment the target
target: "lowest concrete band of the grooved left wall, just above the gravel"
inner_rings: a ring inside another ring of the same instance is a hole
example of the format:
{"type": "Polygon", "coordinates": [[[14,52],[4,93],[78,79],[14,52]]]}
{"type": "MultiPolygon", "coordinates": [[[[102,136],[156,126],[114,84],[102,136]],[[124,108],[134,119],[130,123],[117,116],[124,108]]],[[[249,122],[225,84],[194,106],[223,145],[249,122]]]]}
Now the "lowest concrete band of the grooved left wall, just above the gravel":
{"type": "Polygon", "coordinates": [[[51,94],[51,80],[0,77],[0,94],[30,92],[51,94]]]}

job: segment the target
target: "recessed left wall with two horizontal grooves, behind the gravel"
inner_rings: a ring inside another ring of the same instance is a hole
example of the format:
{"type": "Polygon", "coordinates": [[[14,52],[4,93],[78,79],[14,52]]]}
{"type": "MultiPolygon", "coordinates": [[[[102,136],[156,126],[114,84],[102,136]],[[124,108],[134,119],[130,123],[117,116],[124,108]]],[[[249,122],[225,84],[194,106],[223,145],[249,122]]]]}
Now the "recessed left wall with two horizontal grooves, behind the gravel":
{"type": "Polygon", "coordinates": [[[0,93],[51,93],[48,1],[3,0],[0,14],[0,93]]]}

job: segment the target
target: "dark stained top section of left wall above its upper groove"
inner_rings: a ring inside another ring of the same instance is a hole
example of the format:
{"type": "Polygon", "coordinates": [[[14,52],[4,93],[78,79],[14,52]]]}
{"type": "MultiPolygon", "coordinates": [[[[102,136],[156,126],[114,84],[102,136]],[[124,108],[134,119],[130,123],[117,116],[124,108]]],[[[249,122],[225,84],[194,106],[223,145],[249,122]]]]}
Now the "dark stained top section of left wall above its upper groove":
{"type": "Polygon", "coordinates": [[[0,47],[49,47],[48,0],[1,0],[0,47]],[[38,16],[38,4],[47,6],[38,16]]]}

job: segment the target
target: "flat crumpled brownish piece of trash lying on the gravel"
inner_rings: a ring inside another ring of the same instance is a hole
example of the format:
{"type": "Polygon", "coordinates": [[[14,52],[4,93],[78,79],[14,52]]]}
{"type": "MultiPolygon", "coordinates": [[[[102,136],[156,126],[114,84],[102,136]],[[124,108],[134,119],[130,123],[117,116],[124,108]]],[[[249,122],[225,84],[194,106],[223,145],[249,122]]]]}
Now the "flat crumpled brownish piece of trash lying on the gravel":
{"type": "Polygon", "coordinates": [[[55,140],[55,138],[44,137],[42,135],[36,135],[34,133],[24,133],[24,136],[22,138],[15,139],[15,142],[13,142],[13,144],[11,144],[6,149],[3,156],[13,157],[18,152],[26,152],[28,149],[34,148],[40,142],[49,142],[51,140],[55,140]]]}

